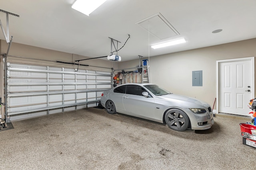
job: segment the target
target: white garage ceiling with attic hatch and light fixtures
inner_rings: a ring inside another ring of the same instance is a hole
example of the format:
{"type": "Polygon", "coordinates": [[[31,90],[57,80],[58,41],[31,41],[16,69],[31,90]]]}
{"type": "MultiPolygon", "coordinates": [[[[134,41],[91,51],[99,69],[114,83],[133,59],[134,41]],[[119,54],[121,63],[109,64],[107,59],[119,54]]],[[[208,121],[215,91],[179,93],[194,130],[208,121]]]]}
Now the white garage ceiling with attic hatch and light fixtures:
{"type": "MultiPolygon", "coordinates": [[[[0,9],[20,16],[9,15],[12,42],[87,57],[110,55],[108,37],[121,42],[119,49],[129,34],[118,51],[122,61],[256,38],[256,0],[107,0],[90,16],[72,9],[74,1],[1,0],[0,9]],[[180,35],[159,39],[135,24],[157,13],[180,35]],[[187,43],[149,47],[182,37],[187,43]]],[[[0,19],[6,31],[6,14],[0,19]]]]}

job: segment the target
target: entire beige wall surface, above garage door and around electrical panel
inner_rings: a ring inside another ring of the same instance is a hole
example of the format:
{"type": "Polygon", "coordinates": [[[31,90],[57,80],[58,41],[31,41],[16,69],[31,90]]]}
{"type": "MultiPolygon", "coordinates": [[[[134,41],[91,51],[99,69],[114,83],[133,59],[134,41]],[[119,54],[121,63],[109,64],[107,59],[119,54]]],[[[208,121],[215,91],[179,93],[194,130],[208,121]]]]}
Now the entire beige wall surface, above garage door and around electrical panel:
{"type": "MultiPolygon", "coordinates": [[[[227,43],[216,45],[212,47],[205,47],[189,51],[182,51],[178,53],[170,53],[166,55],[143,57],[142,59],[149,59],[150,63],[150,82],[158,84],[166,88],[170,92],[191,96],[200,100],[208,102],[213,106],[216,98],[216,61],[224,59],[236,59],[244,57],[256,56],[256,39],[249,39],[245,41],[238,41],[234,43],[227,43]],[[192,86],[192,71],[203,71],[203,86],[192,86]]],[[[4,101],[4,71],[2,63],[2,55],[6,53],[8,44],[6,41],[0,41],[1,53],[1,97],[4,101]]],[[[9,55],[20,57],[28,57],[33,59],[44,59],[49,61],[37,61],[31,59],[23,59],[16,57],[8,57],[8,62],[48,65],[56,67],[77,68],[77,65],[60,64],[55,61],[64,61],[74,63],[78,59],[86,59],[87,57],[33,47],[29,45],[22,45],[12,43],[9,55]]],[[[96,69],[93,66],[104,67],[97,68],[97,70],[106,70],[106,68],[122,69],[131,68],[139,65],[139,59],[124,62],[113,62],[102,59],[93,59],[81,61],[80,64],[88,64],[89,67],[80,66],[80,69],[96,69]]],[[[107,69],[109,70],[109,69],[107,69]]],[[[134,70],[134,69],[131,69],[134,70]]],[[[125,70],[129,71],[129,70],[125,70]]],[[[120,72],[116,71],[115,73],[120,72]]],[[[256,91],[256,90],[255,90],[256,91]]],[[[216,106],[216,105],[215,105],[216,106]]],[[[4,117],[4,107],[2,107],[2,117],[4,117]]]]}

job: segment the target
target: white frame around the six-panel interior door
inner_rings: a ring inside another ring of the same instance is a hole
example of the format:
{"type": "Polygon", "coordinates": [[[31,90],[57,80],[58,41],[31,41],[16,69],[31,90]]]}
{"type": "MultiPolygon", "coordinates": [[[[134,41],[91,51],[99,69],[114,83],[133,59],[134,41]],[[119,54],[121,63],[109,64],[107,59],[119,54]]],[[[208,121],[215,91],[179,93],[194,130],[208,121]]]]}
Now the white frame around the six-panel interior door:
{"type": "MultiPolygon", "coordinates": [[[[244,57],[239,59],[227,59],[227,60],[218,60],[216,61],[216,113],[219,113],[219,64],[220,63],[228,63],[228,62],[234,62],[234,61],[251,61],[252,66],[252,94],[254,95],[254,76],[255,76],[255,70],[254,70],[254,57],[244,57]]],[[[249,103],[250,101],[248,101],[249,103]]],[[[213,108],[212,108],[213,109],[213,108]]]]}

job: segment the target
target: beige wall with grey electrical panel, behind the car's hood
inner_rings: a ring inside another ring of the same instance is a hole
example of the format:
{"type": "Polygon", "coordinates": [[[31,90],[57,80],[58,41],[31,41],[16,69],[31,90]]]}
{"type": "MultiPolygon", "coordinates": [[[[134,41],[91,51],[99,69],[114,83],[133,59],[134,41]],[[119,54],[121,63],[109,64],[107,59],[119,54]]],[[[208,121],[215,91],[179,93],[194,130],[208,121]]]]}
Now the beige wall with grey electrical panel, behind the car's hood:
{"type": "MultiPolygon", "coordinates": [[[[154,56],[149,58],[150,82],[213,106],[216,98],[216,61],[255,56],[256,39],[154,56]],[[196,70],[203,71],[203,86],[192,86],[192,71],[196,70]]],[[[126,61],[121,62],[119,68],[136,65],[138,60],[126,61]]]]}

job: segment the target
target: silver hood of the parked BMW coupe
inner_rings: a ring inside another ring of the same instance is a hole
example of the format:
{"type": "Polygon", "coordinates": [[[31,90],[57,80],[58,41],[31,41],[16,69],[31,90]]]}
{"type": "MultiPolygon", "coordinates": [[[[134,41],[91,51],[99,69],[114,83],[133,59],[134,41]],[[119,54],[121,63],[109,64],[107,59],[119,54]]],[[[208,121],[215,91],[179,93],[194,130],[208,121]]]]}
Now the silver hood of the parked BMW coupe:
{"type": "Polygon", "coordinates": [[[210,105],[202,100],[197,100],[195,98],[190,98],[187,96],[182,96],[182,95],[178,95],[178,94],[167,94],[164,96],[156,96],[159,99],[163,99],[163,100],[169,100],[172,102],[179,102],[179,103],[184,103],[193,107],[196,106],[204,106],[204,107],[209,107],[210,105]]]}

